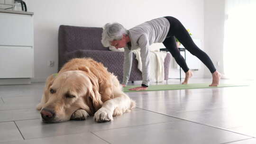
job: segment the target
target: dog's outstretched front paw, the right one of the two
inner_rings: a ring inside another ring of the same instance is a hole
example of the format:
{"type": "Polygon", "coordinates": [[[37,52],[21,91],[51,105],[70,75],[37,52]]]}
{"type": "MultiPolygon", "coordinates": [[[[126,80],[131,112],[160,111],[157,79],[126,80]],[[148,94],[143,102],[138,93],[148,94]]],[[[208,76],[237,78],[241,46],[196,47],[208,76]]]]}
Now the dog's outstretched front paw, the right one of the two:
{"type": "Polygon", "coordinates": [[[107,108],[100,108],[95,114],[94,114],[94,120],[96,122],[107,122],[113,120],[113,112],[110,111],[107,108]]]}

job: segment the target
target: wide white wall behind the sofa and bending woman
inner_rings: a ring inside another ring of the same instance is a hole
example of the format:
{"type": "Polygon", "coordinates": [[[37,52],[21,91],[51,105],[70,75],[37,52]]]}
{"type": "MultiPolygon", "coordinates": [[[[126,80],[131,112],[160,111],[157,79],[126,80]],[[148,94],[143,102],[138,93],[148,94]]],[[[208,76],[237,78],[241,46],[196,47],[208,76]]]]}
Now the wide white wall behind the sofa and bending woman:
{"type": "MultiPolygon", "coordinates": [[[[33,81],[45,81],[57,72],[60,25],[102,27],[119,22],[131,28],[146,20],[173,16],[191,30],[194,38],[204,42],[204,0],[27,0],[27,7],[35,14],[33,81]],[[49,60],[55,61],[54,67],[47,66],[49,60]]],[[[178,70],[171,74],[178,77],[178,70]]],[[[194,73],[194,77],[202,76],[203,69],[194,73]]]]}

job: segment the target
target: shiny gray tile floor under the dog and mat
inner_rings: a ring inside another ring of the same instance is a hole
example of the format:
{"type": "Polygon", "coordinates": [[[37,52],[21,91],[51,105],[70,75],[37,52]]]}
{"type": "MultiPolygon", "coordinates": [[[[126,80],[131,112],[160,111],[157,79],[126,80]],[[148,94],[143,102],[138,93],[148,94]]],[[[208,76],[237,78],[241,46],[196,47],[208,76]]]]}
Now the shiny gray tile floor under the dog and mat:
{"type": "Polygon", "coordinates": [[[251,85],[128,92],[137,108],[112,122],[57,124],[42,123],[36,110],[44,83],[2,85],[0,144],[256,144],[256,87],[246,82],[251,85]]]}

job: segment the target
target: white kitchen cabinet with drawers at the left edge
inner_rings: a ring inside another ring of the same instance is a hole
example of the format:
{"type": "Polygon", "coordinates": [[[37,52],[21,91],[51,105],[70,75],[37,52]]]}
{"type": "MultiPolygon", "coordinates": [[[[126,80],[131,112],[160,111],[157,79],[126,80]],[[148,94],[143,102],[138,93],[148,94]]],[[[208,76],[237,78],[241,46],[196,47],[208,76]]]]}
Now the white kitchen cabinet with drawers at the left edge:
{"type": "Polygon", "coordinates": [[[0,84],[27,84],[34,77],[33,34],[33,13],[0,11],[0,84]]]}

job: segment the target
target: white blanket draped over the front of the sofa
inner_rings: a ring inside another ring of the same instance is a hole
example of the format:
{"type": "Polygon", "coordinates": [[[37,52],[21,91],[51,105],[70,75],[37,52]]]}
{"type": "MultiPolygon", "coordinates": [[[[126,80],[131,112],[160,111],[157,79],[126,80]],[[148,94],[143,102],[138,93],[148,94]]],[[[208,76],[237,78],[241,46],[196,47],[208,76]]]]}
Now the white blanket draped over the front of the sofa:
{"type": "MultiPolygon", "coordinates": [[[[140,49],[134,50],[133,53],[136,55],[138,61],[138,69],[142,72],[142,62],[140,57],[140,49]]],[[[149,61],[149,73],[151,82],[161,82],[165,80],[165,56],[166,53],[159,51],[150,51],[150,61],[149,61]]]]}

